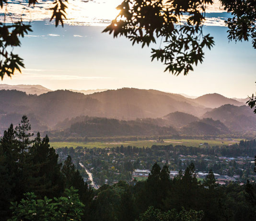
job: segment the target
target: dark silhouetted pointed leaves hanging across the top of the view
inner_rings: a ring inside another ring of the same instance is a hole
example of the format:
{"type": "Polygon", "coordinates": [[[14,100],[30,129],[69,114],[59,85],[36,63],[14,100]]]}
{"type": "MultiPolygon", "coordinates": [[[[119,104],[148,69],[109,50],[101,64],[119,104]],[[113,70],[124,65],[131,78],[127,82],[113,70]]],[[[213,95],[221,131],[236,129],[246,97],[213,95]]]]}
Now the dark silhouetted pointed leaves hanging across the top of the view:
{"type": "MultiPolygon", "coordinates": [[[[67,0],[55,0],[50,21],[55,19],[55,25],[63,26],[66,19],[65,4],[67,0]]],[[[29,0],[29,5],[35,5],[37,0],[29,0]]],[[[174,75],[193,71],[193,65],[202,63],[204,49],[214,45],[213,37],[203,34],[205,11],[212,0],[123,0],[117,6],[118,16],[105,28],[104,32],[113,33],[114,37],[125,36],[132,44],[141,43],[142,47],[156,43],[156,38],[162,38],[159,48],[151,49],[152,60],[157,59],[165,64],[165,71],[174,75]],[[163,41],[163,44],[162,44],[163,41]]],[[[0,0],[0,7],[7,5],[7,0],[0,0]]],[[[252,38],[256,48],[256,3],[254,0],[221,0],[224,9],[232,14],[226,21],[229,28],[229,40],[248,41],[252,38]]],[[[20,46],[19,36],[24,36],[31,30],[31,25],[22,21],[10,26],[0,23],[0,77],[11,76],[17,69],[24,67],[23,60],[18,55],[8,52],[6,47],[20,46]],[[11,31],[12,30],[12,31],[11,31]]]]}

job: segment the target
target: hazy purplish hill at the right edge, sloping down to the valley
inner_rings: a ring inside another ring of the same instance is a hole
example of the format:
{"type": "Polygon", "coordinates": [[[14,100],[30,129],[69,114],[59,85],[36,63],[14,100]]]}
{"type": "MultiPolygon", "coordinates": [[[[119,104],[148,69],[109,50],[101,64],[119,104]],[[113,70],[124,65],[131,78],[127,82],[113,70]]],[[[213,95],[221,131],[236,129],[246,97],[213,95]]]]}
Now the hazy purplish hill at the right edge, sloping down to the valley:
{"type": "Polygon", "coordinates": [[[205,113],[203,117],[220,120],[235,132],[256,131],[256,115],[247,106],[226,104],[205,113]]]}

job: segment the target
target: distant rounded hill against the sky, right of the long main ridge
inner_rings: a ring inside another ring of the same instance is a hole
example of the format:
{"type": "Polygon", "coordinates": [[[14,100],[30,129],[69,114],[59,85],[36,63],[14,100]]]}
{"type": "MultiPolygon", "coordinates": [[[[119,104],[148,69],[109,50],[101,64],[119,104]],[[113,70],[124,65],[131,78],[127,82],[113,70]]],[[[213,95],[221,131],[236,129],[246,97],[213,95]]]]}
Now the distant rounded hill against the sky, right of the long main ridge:
{"type": "Polygon", "coordinates": [[[224,104],[233,104],[236,106],[244,105],[243,102],[231,98],[226,98],[217,93],[200,96],[194,99],[194,101],[208,108],[218,108],[224,104]]]}

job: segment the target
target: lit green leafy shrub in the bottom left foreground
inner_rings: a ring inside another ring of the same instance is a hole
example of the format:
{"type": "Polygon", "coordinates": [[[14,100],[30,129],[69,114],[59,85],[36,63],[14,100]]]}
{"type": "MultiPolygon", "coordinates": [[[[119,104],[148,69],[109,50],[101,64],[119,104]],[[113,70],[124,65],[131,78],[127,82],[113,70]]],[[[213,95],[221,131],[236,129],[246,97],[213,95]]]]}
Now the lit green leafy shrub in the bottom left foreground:
{"type": "Polygon", "coordinates": [[[12,218],[9,221],[79,221],[84,205],[76,189],[65,190],[65,197],[36,199],[34,193],[25,193],[18,204],[12,202],[12,218]]]}

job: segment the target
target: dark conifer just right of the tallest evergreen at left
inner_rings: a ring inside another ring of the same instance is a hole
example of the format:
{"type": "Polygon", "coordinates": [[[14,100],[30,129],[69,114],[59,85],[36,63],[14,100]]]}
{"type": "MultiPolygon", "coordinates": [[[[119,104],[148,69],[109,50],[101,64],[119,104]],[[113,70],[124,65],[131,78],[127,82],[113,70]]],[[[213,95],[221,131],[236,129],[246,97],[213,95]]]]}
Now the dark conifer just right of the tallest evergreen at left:
{"type": "MultiPolygon", "coordinates": [[[[25,158],[24,177],[26,192],[34,192],[38,197],[59,197],[65,190],[65,179],[58,163],[58,154],[50,147],[49,138],[40,138],[37,133],[35,143],[25,158]]],[[[70,188],[70,187],[69,187],[70,188]]]]}

